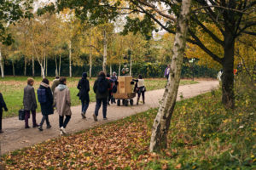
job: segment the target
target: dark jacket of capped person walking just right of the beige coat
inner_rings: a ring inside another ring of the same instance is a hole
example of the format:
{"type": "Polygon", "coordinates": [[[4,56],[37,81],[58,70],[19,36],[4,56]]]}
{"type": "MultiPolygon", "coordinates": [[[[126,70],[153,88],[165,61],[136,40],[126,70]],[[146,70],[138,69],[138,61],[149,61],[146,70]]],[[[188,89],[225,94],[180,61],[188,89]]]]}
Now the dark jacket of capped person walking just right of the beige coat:
{"type": "Polygon", "coordinates": [[[86,78],[82,78],[78,84],[79,99],[89,101],[90,84],[86,78]]]}

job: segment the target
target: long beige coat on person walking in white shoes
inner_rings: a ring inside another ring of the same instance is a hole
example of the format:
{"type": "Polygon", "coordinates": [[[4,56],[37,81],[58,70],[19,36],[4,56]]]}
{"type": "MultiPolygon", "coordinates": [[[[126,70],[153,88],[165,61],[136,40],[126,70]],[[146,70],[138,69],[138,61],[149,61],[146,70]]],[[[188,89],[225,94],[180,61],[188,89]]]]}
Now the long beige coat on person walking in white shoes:
{"type": "Polygon", "coordinates": [[[60,116],[71,116],[70,91],[66,85],[60,84],[55,88],[55,105],[60,116]]]}

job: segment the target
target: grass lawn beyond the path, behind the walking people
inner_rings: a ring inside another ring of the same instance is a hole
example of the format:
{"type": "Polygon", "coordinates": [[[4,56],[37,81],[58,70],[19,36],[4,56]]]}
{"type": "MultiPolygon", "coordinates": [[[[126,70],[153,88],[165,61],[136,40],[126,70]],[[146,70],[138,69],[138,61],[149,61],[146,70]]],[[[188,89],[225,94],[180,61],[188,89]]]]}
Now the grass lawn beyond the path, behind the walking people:
{"type": "MultiPolygon", "coordinates": [[[[54,77],[48,77],[49,81],[52,82],[54,77]]],[[[5,77],[0,79],[0,92],[3,94],[3,98],[9,108],[8,112],[3,112],[3,117],[17,116],[18,111],[22,108],[23,100],[23,88],[26,87],[27,77],[5,77]]],[[[92,90],[93,83],[96,78],[90,79],[90,102],[94,102],[95,94],[92,90]]],[[[41,77],[35,77],[35,90],[39,87],[41,77]]],[[[80,105],[79,97],[77,94],[79,90],[77,89],[77,84],[79,82],[79,77],[67,78],[67,87],[70,88],[72,105],[80,105]]],[[[188,80],[182,80],[181,85],[197,83],[188,80]]],[[[165,88],[166,79],[146,79],[145,85],[147,90],[154,90],[165,88]]],[[[40,105],[38,104],[38,112],[40,112],[40,105]]]]}

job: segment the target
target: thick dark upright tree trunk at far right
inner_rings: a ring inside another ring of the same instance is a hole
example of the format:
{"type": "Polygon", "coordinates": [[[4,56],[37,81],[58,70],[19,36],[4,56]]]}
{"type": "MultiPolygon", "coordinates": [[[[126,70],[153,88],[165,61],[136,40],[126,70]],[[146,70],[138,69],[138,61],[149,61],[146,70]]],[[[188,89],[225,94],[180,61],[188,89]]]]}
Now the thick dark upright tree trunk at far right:
{"type": "Polygon", "coordinates": [[[222,75],[222,103],[228,108],[235,107],[234,94],[234,51],[235,41],[229,28],[224,36],[224,60],[222,75]]]}

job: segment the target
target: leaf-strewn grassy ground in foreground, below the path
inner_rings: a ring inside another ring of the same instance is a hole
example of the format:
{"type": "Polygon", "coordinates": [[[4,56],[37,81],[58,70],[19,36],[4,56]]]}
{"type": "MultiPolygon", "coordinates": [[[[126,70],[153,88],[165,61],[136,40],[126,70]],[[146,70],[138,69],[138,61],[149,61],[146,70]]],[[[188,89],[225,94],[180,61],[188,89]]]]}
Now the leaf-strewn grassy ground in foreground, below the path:
{"type": "Polygon", "coordinates": [[[148,152],[155,109],[16,150],[3,156],[3,164],[8,169],[253,169],[253,95],[240,90],[234,111],[221,104],[219,90],[178,102],[168,147],[160,154],[148,152]]]}

